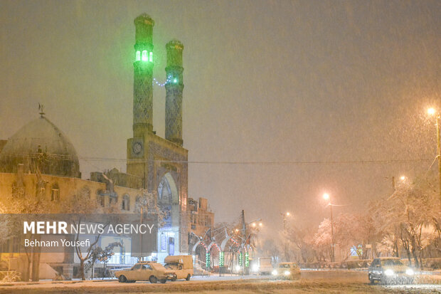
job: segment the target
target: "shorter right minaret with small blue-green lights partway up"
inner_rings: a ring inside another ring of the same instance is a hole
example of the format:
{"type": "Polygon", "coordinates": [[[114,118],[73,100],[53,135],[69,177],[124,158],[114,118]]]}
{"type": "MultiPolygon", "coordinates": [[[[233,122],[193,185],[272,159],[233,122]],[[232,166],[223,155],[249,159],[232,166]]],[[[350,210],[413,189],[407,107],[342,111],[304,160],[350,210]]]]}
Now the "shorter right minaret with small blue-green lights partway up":
{"type": "Polygon", "coordinates": [[[167,67],[166,67],[166,140],[182,146],[182,90],[184,80],[182,72],[182,51],[184,45],[171,40],[166,44],[167,67]]]}

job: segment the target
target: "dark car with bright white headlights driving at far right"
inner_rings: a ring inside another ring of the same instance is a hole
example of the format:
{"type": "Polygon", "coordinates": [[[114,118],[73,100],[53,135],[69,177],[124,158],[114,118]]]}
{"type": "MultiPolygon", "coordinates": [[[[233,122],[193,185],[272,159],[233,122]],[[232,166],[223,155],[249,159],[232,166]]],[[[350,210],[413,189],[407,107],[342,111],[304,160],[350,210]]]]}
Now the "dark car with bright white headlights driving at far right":
{"type": "Polygon", "coordinates": [[[375,258],[368,268],[371,284],[376,281],[383,284],[413,283],[415,272],[405,266],[398,257],[375,258]]]}

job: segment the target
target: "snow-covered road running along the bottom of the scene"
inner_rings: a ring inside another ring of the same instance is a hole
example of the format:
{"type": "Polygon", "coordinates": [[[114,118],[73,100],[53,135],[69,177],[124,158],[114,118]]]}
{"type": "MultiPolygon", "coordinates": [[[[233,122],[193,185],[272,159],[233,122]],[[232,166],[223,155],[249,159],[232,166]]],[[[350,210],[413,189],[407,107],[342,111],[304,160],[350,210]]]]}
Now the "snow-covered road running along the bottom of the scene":
{"type": "Polygon", "coordinates": [[[26,285],[0,284],[0,293],[441,293],[440,280],[427,280],[427,276],[415,285],[393,286],[369,285],[366,276],[365,272],[356,271],[302,271],[302,278],[297,281],[218,275],[166,284],[126,284],[114,280],[58,283],[48,281],[26,285]],[[428,281],[438,284],[428,284],[428,281]]]}

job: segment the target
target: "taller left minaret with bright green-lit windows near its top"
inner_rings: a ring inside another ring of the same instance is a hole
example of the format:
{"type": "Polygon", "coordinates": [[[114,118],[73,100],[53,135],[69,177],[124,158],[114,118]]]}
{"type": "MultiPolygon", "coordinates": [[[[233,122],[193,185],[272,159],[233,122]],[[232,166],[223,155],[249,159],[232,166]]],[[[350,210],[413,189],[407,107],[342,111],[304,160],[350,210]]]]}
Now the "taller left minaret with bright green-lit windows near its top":
{"type": "Polygon", "coordinates": [[[142,137],[153,131],[153,26],[148,14],[134,19],[135,61],[133,81],[133,135],[142,137]]]}

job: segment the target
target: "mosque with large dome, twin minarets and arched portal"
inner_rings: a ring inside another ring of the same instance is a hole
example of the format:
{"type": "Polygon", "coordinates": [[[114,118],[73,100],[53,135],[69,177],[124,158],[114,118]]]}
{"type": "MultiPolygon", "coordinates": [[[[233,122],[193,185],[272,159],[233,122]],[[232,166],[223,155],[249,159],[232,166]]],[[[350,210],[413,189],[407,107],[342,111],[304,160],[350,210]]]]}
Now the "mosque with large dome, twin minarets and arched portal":
{"type": "MultiPolygon", "coordinates": [[[[161,262],[168,255],[191,254],[188,236],[196,228],[197,217],[195,209],[187,209],[188,150],[182,140],[184,45],[177,40],[166,44],[166,129],[162,138],[153,130],[154,21],[142,14],[134,19],[134,25],[133,137],[127,140],[127,172],[111,169],[92,172],[90,179],[82,179],[73,143],[42,109],[40,117],[8,140],[0,140],[0,203],[4,195],[11,199],[40,196],[61,203],[82,193],[97,199],[102,207],[116,205],[123,212],[139,213],[141,191],[153,194],[166,216],[157,233],[156,248],[138,256],[131,256],[129,248],[125,248],[116,254],[115,263],[126,265],[137,257],[161,262]]],[[[207,206],[206,199],[200,201],[207,206]]],[[[204,214],[203,218],[206,225],[198,227],[201,232],[213,226],[214,214],[204,214]]],[[[9,248],[15,246],[14,242],[6,240],[0,246],[9,248]]],[[[24,271],[23,256],[3,253],[0,260],[5,258],[10,268],[24,271]]],[[[41,260],[40,278],[53,278],[56,272],[68,278],[78,275],[75,254],[53,254],[41,260]]]]}

